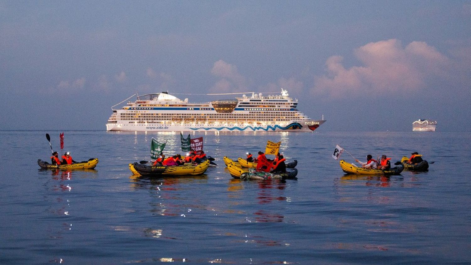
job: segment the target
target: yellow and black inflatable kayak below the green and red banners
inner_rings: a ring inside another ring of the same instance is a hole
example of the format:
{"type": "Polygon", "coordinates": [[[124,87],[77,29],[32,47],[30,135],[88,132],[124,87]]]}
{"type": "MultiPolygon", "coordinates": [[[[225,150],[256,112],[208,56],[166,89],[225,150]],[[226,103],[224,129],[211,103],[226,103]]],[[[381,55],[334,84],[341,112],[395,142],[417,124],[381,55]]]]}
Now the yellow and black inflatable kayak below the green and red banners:
{"type": "Polygon", "coordinates": [[[136,162],[129,164],[129,169],[132,174],[142,176],[200,175],[208,169],[209,164],[209,160],[196,166],[148,166],[136,162]]]}

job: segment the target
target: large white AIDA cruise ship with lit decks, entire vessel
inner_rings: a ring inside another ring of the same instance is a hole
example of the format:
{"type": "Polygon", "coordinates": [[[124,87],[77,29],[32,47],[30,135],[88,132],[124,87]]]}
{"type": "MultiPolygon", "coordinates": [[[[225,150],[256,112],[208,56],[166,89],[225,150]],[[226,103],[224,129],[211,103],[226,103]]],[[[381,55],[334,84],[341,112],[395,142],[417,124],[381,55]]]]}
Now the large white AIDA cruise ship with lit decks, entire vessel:
{"type": "Polygon", "coordinates": [[[325,122],[300,112],[298,100],[290,98],[287,90],[269,96],[246,93],[251,94],[207,103],[189,103],[168,92],[153,93],[114,108],[125,99],[112,107],[106,131],[312,132],[325,122]]]}

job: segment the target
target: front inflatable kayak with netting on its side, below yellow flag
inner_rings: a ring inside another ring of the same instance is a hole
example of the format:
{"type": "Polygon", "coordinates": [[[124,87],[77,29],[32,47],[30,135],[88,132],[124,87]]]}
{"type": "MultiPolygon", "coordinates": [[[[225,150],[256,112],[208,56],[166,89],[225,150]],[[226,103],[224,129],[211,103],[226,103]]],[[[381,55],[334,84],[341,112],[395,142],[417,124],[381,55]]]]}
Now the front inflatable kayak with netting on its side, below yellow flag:
{"type": "Polygon", "coordinates": [[[286,173],[258,172],[255,168],[241,168],[234,164],[227,165],[229,174],[235,179],[294,179],[298,174],[296,168],[286,168],[286,173]]]}

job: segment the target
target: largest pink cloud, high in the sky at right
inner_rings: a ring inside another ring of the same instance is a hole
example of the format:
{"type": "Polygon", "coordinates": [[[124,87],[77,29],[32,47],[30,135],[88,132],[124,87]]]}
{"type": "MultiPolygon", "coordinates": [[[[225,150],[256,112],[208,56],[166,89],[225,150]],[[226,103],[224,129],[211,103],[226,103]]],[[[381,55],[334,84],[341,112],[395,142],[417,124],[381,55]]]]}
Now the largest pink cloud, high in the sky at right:
{"type": "Polygon", "coordinates": [[[396,39],[368,43],[354,52],[362,66],[343,66],[343,57],[325,62],[326,75],[317,76],[311,92],[347,97],[374,92],[422,90],[431,76],[445,76],[449,59],[422,41],[405,48],[396,39]]]}

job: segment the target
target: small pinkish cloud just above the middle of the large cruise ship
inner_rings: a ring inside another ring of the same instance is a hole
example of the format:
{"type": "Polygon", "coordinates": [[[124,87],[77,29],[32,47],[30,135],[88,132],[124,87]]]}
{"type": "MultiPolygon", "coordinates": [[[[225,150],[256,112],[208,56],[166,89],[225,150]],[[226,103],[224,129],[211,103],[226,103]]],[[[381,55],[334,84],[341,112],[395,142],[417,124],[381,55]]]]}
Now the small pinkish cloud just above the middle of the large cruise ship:
{"type": "Polygon", "coordinates": [[[239,74],[237,66],[228,64],[223,60],[214,63],[211,74],[221,78],[221,80],[211,88],[212,91],[218,91],[219,89],[224,89],[225,91],[241,91],[247,87],[247,81],[244,76],[239,74]]]}

